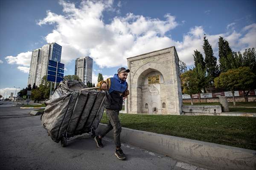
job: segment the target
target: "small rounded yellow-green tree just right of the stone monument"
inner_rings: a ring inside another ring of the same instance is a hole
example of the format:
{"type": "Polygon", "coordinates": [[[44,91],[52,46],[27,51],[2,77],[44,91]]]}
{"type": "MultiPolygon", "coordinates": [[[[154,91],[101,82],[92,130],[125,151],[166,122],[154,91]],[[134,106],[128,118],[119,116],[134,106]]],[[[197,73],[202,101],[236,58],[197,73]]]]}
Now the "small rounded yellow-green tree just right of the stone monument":
{"type": "Polygon", "coordinates": [[[198,93],[198,78],[194,70],[186,71],[180,75],[183,94],[190,95],[191,105],[193,105],[192,94],[198,93]]]}

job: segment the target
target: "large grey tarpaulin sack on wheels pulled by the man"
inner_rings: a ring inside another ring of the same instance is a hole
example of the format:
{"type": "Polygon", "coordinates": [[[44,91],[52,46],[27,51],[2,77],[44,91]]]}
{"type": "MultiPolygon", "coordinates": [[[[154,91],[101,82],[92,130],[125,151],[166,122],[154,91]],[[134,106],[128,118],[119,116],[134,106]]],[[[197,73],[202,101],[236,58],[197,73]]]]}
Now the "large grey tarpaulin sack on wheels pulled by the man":
{"type": "Polygon", "coordinates": [[[104,99],[104,91],[88,89],[77,80],[62,81],[46,100],[41,123],[52,140],[57,143],[61,140],[62,146],[69,137],[82,133],[94,135],[102,119],[104,99]]]}

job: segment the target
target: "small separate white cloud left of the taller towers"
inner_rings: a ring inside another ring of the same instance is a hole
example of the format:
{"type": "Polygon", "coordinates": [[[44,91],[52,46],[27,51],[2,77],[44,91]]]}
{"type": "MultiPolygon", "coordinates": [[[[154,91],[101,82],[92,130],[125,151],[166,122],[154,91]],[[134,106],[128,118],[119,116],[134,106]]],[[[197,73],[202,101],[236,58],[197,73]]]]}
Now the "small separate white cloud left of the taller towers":
{"type": "Polygon", "coordinates": [[[8,64],[30,66],[31,55],[32,55],[32,51],[27,51],[27,52],[18,54],[16,57],[7,56],[5,57],[5,59],[8,64]]]}

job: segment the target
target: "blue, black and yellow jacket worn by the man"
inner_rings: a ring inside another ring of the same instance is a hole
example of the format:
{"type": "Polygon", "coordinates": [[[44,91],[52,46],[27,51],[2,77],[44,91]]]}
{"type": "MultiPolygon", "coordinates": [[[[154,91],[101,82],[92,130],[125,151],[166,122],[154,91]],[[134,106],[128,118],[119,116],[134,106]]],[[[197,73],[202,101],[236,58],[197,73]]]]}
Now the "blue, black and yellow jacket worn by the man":
{"type": "MultiPolygon", "coordinates": [[[[118,74],[106,79],[105,81],[98,82],[97,87],[101,87],[102,83],[107,83],[108,91],[106,92],[105,108],[121,111],[123,97],[125,97],[125,91],[128,89],[128,83],[122,81],[118,74]]],[[[101,90],[101,89],[99,89],[101,90]]]]}

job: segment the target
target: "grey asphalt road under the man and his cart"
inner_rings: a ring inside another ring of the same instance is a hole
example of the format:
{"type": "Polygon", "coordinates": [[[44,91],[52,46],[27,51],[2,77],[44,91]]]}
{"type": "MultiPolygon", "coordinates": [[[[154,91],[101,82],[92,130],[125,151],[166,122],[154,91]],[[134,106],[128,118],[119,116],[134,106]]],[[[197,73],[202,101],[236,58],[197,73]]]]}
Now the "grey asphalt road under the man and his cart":
{"type": "Polygon", "coordinates": [[[28,109],[0,105],[1,170],[204,170],[170,157],[122,143],[127,160],[114,156],[112,139],[102,149],[85,134],[68,142],[53,142],[42,127],[40,116],[28,109]]]}

